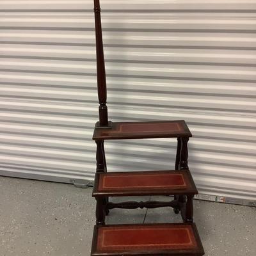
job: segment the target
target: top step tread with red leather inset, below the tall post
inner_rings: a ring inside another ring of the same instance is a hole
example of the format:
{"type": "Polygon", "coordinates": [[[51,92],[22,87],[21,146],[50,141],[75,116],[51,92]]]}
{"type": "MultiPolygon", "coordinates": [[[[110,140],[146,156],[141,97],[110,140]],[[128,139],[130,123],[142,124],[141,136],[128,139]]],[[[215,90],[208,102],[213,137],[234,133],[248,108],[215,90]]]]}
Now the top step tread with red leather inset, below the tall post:
{"type": "Polygon", "coordinates": [[[95,128],[93,140],[192,137],[186,122],[113,122],[109,129],[95,128]]]}

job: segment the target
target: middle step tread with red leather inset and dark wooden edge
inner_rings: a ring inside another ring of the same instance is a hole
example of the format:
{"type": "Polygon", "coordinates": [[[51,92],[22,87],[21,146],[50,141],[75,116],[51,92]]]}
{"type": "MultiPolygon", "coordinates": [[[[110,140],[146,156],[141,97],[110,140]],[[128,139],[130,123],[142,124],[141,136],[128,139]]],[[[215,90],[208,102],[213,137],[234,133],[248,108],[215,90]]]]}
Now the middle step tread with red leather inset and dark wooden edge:
{"type": "Polygon", "coordinates": [[[93,196],[197,195],[189,170],[96,173],[93,196]]]}

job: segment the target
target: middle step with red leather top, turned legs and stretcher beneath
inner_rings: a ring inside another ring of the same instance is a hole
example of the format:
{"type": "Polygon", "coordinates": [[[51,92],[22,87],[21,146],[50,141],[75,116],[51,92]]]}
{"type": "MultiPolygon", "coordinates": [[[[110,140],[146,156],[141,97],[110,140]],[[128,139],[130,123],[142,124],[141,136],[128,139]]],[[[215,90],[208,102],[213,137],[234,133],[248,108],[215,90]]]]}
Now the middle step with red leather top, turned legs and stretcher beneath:
{"type": "Polygon", "coordinates": [[[184,222],[193,222],[193,196],[197,195],[195,183],[189,170],[148,172],[99,172],[95,175],[93,196],[97,200],[96,219],[105,223],[109,209],[136,209],[173,207],[180,212],[184,222]],[[120,202],[111,203],[108,196],[175,195],[171,202],[120,202]],[[186,200],[186,197],[188,200],[186,200]]]}

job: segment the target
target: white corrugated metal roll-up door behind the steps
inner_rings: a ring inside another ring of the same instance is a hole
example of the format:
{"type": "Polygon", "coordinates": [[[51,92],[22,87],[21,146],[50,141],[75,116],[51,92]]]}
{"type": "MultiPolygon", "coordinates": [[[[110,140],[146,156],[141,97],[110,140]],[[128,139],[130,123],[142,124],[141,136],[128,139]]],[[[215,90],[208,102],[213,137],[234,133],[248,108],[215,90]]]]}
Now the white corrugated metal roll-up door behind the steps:
{"type": "MultiPolygon", "coordinates": [[[[0,174],[92,180],[93,1],[0,1],[0,174]]],[[[256,0],[102,0],[109,116],[188,122],[200,193],[255,199],[256,0]]],[[[175,140],[106,143],[108,168],[173,168],[175,140]]]]}

